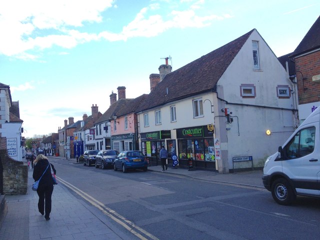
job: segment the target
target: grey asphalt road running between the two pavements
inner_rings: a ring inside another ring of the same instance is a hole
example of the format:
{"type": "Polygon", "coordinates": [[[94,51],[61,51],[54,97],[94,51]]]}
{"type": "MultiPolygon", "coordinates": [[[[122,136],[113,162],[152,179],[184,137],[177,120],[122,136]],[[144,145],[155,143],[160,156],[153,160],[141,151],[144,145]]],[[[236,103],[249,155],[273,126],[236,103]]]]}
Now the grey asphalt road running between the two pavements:
{"type": "Polygon", "coordinates": [[[50,158],[57,177],[137,239],[318,239],[319,200],[276,204],[270,192],[152,171],[50,158]]]}

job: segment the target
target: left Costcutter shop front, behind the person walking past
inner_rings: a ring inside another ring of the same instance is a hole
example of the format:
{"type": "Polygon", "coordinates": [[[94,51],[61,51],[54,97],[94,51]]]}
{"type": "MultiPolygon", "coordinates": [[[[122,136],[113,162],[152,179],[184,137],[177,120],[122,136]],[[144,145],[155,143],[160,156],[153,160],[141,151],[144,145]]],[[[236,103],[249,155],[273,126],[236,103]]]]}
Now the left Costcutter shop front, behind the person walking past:
{"type": "MultiPolygon", "coordinates": [[[[141,141],[141,151],[144,155],[149,157],[149,165],[160,165],[161,161],[159,158],[159,152],[162,145],[165,145],[165,139],[171,138],[170,130],[160,130],[152,132],[140,133],[141,141]]],[[[170,141],[170,149],[168,149],[168,155],[172,154],[172,151],[175,151],[175,139],[167,140],[167,143],[170,141]],[[174,144],[174,145],[173,145],[174,144]],[[170,150],[170,151],[169,151],[170,150]]],[[[168,156],[169,158],[170,156],[168,156]]]]}

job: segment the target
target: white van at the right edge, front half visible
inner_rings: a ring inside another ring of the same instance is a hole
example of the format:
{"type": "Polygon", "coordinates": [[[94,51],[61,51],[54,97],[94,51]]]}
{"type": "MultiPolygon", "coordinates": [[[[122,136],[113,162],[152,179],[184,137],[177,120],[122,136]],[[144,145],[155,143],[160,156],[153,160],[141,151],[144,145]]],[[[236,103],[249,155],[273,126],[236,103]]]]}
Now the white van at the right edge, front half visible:
{"type": "Polygon", "coordinates": [[[282,205],[291,204],[296,195],[320,197],[320,107],[266,159],[262,180],[282,205]]]}

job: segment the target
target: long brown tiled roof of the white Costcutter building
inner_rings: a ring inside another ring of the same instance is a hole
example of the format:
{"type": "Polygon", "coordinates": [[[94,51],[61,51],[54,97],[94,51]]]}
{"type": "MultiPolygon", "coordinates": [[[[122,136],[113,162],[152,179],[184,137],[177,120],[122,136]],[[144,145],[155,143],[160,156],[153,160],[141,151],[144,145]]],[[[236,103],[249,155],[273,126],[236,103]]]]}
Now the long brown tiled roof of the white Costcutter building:
{"type": "Polygon", "coordinates": [[[253,30],[168,73],[137,111],[212,90],[253,30]]]}

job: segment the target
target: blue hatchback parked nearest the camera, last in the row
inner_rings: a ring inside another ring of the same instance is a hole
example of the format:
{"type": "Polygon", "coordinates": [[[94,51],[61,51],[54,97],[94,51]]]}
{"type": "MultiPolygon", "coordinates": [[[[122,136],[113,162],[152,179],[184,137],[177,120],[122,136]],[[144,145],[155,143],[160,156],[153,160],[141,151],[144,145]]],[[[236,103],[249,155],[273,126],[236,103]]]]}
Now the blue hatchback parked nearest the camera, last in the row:
{"type": "Polygon", "coordinates": [[[139,168],[143,171],[148,169],[147,160],[142,151],[121,151],[115,158],[113,163],[113,169],[122,169],[123,172],[127,172],[128,168],[139,168]]]}

